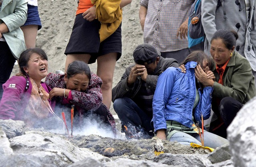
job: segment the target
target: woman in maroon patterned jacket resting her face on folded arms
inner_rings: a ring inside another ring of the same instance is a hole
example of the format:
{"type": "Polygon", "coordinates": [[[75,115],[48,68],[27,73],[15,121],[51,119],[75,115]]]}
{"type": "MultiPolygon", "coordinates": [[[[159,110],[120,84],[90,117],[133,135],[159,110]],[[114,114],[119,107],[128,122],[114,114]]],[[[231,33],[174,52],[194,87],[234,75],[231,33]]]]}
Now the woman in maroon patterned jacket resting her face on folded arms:
{"type": "Polygon", "coordinates": [[[111,126],[114,134],[116,133],[115,120],[102,103],[100,89],[102,80],[90,72],[86,63],[83,61],[70,63],[64,75],[49,73],[45,83],[52,88],[50,99],[56,96],[56,113],[59,113],[57,110],[64,109],[70,118],[71,106],[74,105],[74,117],[78,116],[81,120],[88,114],[96,114],[105,124],[111,126]]]}

